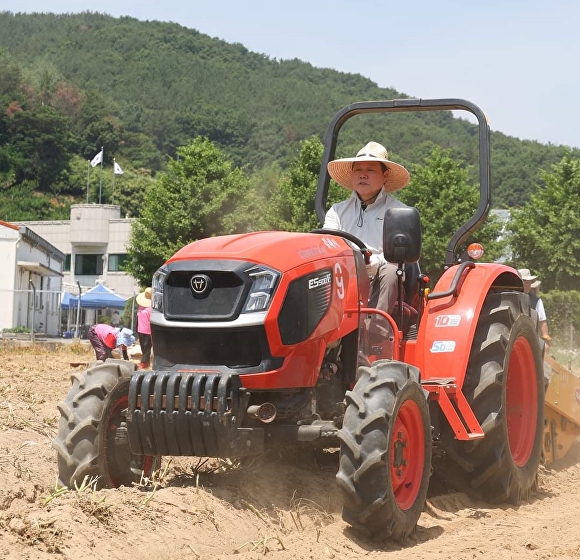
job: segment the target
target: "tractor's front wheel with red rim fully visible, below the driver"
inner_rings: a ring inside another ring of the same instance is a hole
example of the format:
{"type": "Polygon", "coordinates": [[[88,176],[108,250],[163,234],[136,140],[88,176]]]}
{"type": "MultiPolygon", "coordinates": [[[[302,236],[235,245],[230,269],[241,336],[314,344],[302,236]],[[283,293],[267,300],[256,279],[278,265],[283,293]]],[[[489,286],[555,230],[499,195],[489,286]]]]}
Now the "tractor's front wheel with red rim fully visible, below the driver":
{"type": "Polygon", "coordinates": [[[431,474],[431,423],[419,371],[380,360],[359,369],[339,431],[343,519],[377,539],[417,526],[431,474]]]}

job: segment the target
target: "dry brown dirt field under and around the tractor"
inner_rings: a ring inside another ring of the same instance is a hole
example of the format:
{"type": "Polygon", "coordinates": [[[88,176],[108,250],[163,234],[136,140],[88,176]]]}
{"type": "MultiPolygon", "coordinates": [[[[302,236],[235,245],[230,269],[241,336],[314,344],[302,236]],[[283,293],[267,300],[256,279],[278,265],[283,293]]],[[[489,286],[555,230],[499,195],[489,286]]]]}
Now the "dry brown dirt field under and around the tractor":
{"type": "Polygon", "coordinates": [[[564,559],[580,557],[580,445],[541,470],[517,508],[463,494],[432,497],[406,547],[378,546],[340,516],[336,454],[269,454],[234,463],[164,459],[152,484],[63,493],[51,441],[71,363],[68,346],[0,346],[0,558],[4,560],[564,559]]]}

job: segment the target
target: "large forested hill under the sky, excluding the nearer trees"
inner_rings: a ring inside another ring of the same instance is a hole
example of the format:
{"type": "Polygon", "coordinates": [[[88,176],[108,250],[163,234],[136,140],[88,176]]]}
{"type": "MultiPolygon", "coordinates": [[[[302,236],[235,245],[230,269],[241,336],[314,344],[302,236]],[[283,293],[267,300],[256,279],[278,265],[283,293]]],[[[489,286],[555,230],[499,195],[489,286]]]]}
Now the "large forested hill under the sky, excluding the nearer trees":
{"type": "MultiPolygon", "coordinates": [[[[0,189],[16,201],[31,194],[82,200],[86,161],[101,146],[108,166],[115,157],[145,181],[196,136],[249,170],[284,168],[301,140],[323,139],[341,107],[397,97],[361,75],[272,59],[175,23],[0,12],[0,189]]],[[[475,163],[475,127],[451,114],[352,121],[343,153],[374,139],[399,160],[419,162],[428,138],[475,163]]],[[[525,202],[539,170],[564,152],[494,132],[494,206],[525,202]]]]}

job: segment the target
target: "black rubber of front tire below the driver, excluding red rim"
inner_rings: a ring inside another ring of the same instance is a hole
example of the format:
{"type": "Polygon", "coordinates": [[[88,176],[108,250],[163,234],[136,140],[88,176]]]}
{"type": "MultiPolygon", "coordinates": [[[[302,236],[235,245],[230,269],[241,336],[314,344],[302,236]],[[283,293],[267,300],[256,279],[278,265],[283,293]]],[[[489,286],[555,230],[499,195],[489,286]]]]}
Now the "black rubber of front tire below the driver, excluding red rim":
{"type": "Polygon", "coordinates": [[[404,541],[416,528],[427,493],[430,475],[431,434],[419,371],[401,362],[381,360],[359,369],[359,380],[346,393],[348,404],[341,441],[340,467],[336,475],[343,494],[345,521],[371,538],[404,541]],[[421,403],[425,431],[425,464],[417,499],[402,510],[393,496],[388,454],[390,425],[400,398],[421,403]],[[421,402],[422,401],[422,402],[421,402]]]}

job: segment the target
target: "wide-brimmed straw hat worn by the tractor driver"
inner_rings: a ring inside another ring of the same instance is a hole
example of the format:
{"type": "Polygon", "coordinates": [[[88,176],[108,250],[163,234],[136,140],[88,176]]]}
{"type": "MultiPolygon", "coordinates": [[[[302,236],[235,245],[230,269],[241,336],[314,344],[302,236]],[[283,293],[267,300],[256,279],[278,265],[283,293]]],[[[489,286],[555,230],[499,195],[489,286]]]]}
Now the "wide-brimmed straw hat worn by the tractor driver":
{"type": "Polygon", "coordinates": [[[377,142],[369,142],[353,158],[329,161],[328,172],[339,185],[352,189],[352,166],[357,161],[378,161],[386,165],[387,176],[383,188],[387,192],[398,191],[411,180],[409,172],[402,165],[391,161],[387,149],[377,142]]]}

